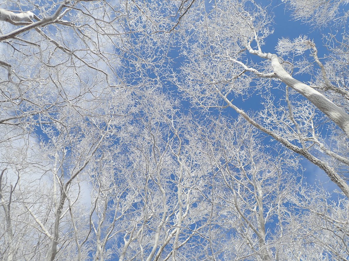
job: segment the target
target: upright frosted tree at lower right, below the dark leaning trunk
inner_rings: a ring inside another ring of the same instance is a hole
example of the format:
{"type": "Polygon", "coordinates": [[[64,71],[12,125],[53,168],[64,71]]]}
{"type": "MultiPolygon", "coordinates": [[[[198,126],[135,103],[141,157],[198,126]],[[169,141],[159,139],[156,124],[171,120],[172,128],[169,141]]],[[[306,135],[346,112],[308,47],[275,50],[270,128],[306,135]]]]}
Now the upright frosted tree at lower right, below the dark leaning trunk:
{"type": "Polygon", "coordinates": [[[324,189],[309,188],[287,150],[266,153],[265,136],[242,117],[208,122],[192,144],[211,166],[201,175],[212,206],[206,259],[348,257],[347,198],[330,201],[324,189]]]}

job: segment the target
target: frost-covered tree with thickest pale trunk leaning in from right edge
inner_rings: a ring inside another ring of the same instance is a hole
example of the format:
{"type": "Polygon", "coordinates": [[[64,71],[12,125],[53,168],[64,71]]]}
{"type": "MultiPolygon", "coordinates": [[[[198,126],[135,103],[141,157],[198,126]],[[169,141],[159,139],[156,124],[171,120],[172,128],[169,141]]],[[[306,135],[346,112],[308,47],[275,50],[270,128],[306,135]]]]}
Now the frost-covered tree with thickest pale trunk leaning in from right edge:
{"type": "MultiPolygon", "coordinates": [[[[304,6],[307,3],[313,5],[315,1],[306,1],[304,6]]],[[[346,5],[336,3],[334,9],[346,5]]],[[[294,5],[302,4],[296,1],[294,5]]],[[[329,5],[326,8],[332,8],[329,5]]],[[[253,1],[216,1],[209,7],[198,4],[196,10],[197,15],[183,23],[183,31],[191,32],[183,36],[189,49],[185,53],[189,62],[183,66],[184,74],[180,78],[186,84],[178,83],[178,86],[201,107],[232,108],[250,124],[323,169],[349,196],[347,177],[337,169],[338,164],[348,168],[348,148],[344,145],[337,149],[320,134],[325,128],[335,136],[333,143],[348,141],[349,93],[347,79],[340,76],[347,70],[347,60],[343,57],[347,52],[332,47],[335,38],[331,38],[328,47],[332,54],[324,64],[315,43],[306,37],[294,41],[281,39],[277,46],[279,55],[263,52],[263,44],[273,33],[272,17],[253,1]],[[296,58],[306,52],[309,59],[296,58]],[[343,58],[344,66],[339,62],[343,58]],[[331,66],[334,61],[338,61],[340,70],[331,66]],[[308,76],[309,81],[297,80],[292,75],[297,73],[308,76]],[[280,104],[273,101],[275,88],[284,91],[280,104]],[[235,97],[245,99],[257,90],[263,93],[261,103],[265,104],[265,111],[258,118],[234,102],[235,97]],[[265,120],[261,121],[260,117],[265,120]]],[[[336,44],[340,48],[347,46],[340,41],[336,44]]]]}

